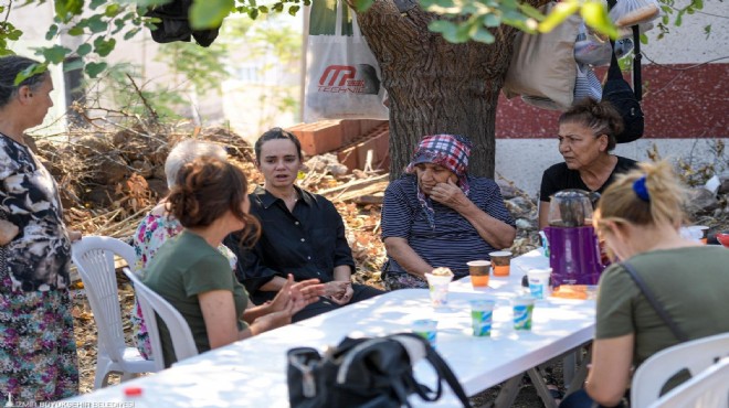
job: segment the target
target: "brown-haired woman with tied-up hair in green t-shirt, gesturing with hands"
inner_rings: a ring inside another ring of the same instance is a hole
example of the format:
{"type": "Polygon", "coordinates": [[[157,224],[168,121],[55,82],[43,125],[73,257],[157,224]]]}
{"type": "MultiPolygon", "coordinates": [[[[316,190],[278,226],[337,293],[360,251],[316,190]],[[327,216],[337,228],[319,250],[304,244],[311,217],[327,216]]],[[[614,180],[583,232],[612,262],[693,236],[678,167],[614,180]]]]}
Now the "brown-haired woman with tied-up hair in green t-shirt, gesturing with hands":
{"type": "MultiPolygon", "coordinates": [[[[288,276],[282,310],[250,324],[243,319],[247,293],[216,249],[233,232],[242,230],[246,240],[260,234],[257,221],[249,215],[247,181],[241,169],[218,159],[196,159],[180,169],[167,202],[184,229],[159,248],[142,281],[182,314],[200,353],[288,324],[292,314],[318,299],[323,288],[315,280],[298,290],[288,276]]],[[[160,332],[169,367],[176,362],[172,340],[165,326],[160,332]]]]}

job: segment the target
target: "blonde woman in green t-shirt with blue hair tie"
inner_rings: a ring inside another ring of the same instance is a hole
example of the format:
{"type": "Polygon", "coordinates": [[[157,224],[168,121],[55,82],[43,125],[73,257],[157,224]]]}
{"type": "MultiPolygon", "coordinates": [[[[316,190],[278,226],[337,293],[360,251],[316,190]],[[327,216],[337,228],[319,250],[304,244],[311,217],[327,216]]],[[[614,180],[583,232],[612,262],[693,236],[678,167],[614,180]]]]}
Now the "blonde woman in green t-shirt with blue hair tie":
{"type": "MultiPolygon", "coordinates": [[[[682,341],[729,332],[729,250],[682,236],[686,194],[667,162],[638,167],[617,176],[595,212],[595,228],[621,262],[600,278],[585,389],[561,407],[589,407],[593,401],[621,406],[632,369],[646,358],[682,341]],[[675,330],[648,302],[627,272],[627,262],[675,330]]],[[[664,390],[682,379],[672,378],[664,390]]]]}

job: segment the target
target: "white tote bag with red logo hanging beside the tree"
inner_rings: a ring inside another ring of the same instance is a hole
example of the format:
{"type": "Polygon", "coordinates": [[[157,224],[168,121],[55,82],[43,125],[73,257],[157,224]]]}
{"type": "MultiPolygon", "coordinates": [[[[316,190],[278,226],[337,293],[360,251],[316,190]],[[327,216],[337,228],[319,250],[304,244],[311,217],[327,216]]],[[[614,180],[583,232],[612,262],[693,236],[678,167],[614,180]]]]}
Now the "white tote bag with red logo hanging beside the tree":
{"type": "Polygon", "coordinates": [[[342,35],[342,9],[337,1],[334,35],[309,35],[304,121],[321,119],[389,119],[382,104],[380,67],[359,31],[352,12],[352,35],[342,35]]]}

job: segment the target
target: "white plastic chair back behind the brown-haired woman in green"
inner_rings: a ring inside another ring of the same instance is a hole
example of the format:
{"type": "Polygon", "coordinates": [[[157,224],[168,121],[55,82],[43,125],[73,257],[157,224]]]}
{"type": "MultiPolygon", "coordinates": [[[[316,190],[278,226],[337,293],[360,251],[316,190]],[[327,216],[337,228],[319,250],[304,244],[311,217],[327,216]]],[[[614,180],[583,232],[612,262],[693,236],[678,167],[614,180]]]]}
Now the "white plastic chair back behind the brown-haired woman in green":
{"type": "Polygon", "coordinates": [[[162,342],[159,335],[159,326],[157,319],[152,316],[158,315],[167,325],[172,337],[172,348],[175,350],[175,357],[177,361],[193,357],[198,355],[198,346],[194,344],[194,337],[188,322],[182,318],[182,314],[175,309],[165,298],[157,294],[149,289],[139,278],[134,275],[128,268],[124,268],[124,273],[131,280],[134,284],[141,314],[145,316],[145,324],[147,325],[147,333],[149,333],[149,343],[151,344],[152,354],[160,356],[155,358],[155,367],[157,371],[165,369],[165,359],[162,354],[162,342]]]}

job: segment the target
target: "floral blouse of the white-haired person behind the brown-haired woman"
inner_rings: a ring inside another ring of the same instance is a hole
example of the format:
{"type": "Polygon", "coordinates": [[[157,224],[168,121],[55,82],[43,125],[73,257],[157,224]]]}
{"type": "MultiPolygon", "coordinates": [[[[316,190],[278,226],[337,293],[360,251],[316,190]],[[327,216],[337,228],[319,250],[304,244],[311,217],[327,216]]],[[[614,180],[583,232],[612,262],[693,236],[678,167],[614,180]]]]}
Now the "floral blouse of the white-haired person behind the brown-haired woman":
{"type": "MultiPolygon", "coordinates": [[[[141,221],[139,227],[133,236],[133,246],[137,256],[135,262],[135,271],[140,278],[145,276],[145,268],[151,258],[157,254],[157,250],[167,240],[175,238],[182,232],[182,225],[172,216],[158,215],[154,211],[141,221]]],[[[218,247],[221,254],[228,258],[231,264],[231,269],[235,270],[237,259],[233,251],[226,246],[221,245],[218,247]]],[[[149,333],[147,333],[147,325],[141,314],[139,302],[135,301],[134,309],[131,310],[131,326],[134,332],[134,342],[139,354],[147,359],[152,358],[151,344],[149,342],[149,333]]]]}

